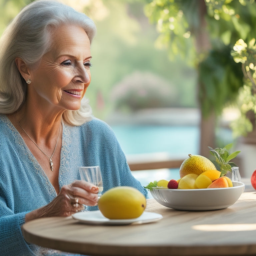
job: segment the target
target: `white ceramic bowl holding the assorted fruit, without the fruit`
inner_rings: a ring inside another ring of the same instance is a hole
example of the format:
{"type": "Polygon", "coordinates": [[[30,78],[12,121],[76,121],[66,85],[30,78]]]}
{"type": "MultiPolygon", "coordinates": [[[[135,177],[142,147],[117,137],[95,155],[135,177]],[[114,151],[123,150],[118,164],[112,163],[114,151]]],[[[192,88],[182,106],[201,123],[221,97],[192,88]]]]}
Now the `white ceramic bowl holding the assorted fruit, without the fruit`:
{"type": "Polygon", "coordinates": [[[166,207],[185,211],[207,211],[231,206],[243,193],[244,187],[244,183],[233,181],[233,187],[229,188],[153,188],[150,192],[158,203],[166,207]]]}

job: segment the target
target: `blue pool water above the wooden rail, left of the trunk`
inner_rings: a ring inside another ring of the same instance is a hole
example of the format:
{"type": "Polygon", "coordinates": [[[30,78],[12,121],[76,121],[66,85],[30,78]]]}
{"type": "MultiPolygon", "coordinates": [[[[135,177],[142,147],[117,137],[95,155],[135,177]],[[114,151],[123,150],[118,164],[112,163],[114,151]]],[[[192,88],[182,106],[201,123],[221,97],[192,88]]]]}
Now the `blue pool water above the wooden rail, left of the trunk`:
{"type": "Polygon", "coordinates": [[[172,156],[198,154],[197,126],[113,125],[126,155],[168,152],[172,156]]]}

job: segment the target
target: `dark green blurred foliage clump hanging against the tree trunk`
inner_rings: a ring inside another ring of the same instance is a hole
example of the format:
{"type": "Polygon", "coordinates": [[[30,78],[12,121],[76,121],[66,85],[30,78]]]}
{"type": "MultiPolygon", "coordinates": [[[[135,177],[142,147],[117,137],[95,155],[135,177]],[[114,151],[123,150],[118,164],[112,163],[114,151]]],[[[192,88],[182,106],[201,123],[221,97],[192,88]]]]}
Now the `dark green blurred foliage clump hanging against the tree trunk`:
{"type": "Polygon", "coordinates": [[[198,66],[198,97],[205,117],[212,111],[221,114],[223,106],[233,103],[243,86],[241,64],[234,62],[230,51],[227,46],[211,50],[198,66]]]}

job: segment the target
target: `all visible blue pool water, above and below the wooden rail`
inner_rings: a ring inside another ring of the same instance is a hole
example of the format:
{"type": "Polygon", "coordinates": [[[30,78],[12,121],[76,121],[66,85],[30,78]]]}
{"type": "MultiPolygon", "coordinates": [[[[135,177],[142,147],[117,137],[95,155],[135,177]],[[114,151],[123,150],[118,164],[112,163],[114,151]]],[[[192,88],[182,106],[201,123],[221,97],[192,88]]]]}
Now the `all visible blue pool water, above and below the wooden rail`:
{"type": "MultiPolygon", "coordinates": [[[[167,153],[171,157],[186,158],[188,154],[199,154],[200,129],[198,126],[165,125],[111,125],[124,151],[129,155],[167,153]]],[[[218,131],[218,137],[231,143],[228,129],[218,131]]],[[[133,171],[143,186],[160,179],[179,179],[179,169],[133,171]]]]}

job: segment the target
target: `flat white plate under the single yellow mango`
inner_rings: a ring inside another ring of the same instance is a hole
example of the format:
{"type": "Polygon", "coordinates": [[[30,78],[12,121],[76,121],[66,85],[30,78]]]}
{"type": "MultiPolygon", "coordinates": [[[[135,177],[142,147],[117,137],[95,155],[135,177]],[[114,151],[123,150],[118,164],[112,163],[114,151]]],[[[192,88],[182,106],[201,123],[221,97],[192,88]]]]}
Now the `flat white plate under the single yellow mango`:
{"type": "Polygon", "coordinates": [[[161,214],[153,212],[143,212],[136,219],[120,219],[111,220],[105,218],[100,211],[77,212],[72,215],[73,219],[86,224],[104,224],[104,225],[128,225],[128,224],[144,224],[154,222],[163,218],[161,214]]]}

